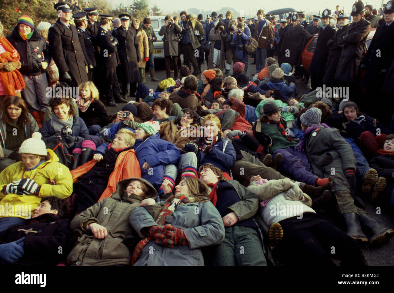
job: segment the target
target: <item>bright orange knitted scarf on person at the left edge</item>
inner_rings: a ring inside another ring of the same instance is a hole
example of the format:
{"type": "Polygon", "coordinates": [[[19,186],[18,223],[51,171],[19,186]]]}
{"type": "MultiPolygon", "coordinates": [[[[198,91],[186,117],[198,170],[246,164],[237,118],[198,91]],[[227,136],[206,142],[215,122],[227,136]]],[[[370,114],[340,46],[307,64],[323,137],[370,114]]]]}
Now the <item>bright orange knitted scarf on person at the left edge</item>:
{"type": "MultiPolygon", "coordinates": [[[[8,63],[18,61],[20,59],[17,50],[15,50],[5,37],[0,37],[0,44],[4,47],[4,50],[7,51],[0,54],[0,63],[8,63]]],[[[25,87],[22,74],[20,74],[17,69],[11,72],[3,70],[0,71],[0,79],[6,97],[15,96],[15,91],[19,91],[25,87]]]]}

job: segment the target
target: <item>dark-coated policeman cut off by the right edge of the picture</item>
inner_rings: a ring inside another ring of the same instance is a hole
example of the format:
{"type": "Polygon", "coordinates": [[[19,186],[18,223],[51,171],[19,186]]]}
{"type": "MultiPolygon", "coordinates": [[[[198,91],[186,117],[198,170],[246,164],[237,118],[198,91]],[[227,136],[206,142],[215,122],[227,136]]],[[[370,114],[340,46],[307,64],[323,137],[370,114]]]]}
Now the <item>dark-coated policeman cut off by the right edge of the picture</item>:
{"type": "MultiPolygon", "coordinates": [[[[394,61],[393,4],[392,0],[388,1],[386,8],[383,11],[385,22],[377,27],[375,35],[368,47],[368,51],[362,60],[361,65],[361,68],[365,69],[361,85],[366,87],[367,95],[379,97],[379,102],[372,103],[372,105],[371,103],[368,103],[368,109],[371,109],[371,115],[374,115],[374,118],[378,118],[386,126],[390,125],[393,113],[393,103],[391,101],[392,95],[388,94],[388,92],[390,92],[389,90],[382,91],[385,80],[386,83],[390,83],[391,87],[393,87],[393,79],[390,79],[390,75],[388,74],[389,71],[392,72],[392,70],[389,69],[390,65],[394,61]],[[383,109],[381,107],[382,105],[385,105],[383,109]]],[[[386,87],[383,89],[385,88],[386,87]]]]}

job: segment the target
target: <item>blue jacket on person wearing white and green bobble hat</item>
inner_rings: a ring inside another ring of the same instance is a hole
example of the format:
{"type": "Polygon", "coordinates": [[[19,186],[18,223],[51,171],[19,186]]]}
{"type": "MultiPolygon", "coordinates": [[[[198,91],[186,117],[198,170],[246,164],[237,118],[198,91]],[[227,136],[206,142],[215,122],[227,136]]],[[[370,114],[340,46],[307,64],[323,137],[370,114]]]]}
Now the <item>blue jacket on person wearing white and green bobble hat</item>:
{"type": "Polygon", "coordinates": [[[149,181],[156,189],[163,183],[165,165],[177,164],[180,157],[180,150],[174,144],[160,139],[158,133],[145,140],[136,139],[134,151],[141,167],[141,178],[149,181]],[[145,162],[149,164],[149,169],[142,169],[145,162]]]}

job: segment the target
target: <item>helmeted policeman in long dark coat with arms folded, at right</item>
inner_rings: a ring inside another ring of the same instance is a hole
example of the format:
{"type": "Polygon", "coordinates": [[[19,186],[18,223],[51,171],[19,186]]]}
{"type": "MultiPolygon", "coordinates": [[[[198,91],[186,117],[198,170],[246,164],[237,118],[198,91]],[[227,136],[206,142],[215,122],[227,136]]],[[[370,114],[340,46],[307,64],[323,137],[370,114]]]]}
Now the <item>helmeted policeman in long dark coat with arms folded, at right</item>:
{"type": "Polygon", "coordinates": [[[364,4],[353,4],[350,15],[353,22],[346,28],[346,35],[338,43],[342,47],[335,79],[342,87],[349,87],[349,99],[359,103],[359,66],[371,24],[364,19],[364,4]]]}

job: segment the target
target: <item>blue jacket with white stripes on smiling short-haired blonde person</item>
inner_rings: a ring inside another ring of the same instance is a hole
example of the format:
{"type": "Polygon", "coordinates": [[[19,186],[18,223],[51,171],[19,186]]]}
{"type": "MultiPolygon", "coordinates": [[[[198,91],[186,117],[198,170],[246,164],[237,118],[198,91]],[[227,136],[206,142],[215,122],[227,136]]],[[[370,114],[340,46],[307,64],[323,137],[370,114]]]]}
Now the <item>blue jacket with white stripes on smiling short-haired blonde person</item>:
{"type": "MultiPolygon", "coordinates": [[[[203,139],[204,137],[200,137],[198,140],[193,142],[199,146],[203,142],[203,139]]],[[[234,146],[232,145],[230,139],[221,138],[220,134],[219,139],[216,141],[216,144],[213,146],[213,148],[209,151],[208,154],[204,154],[201,150],[197,152],[197,164],[199,166],[206,163],[211,163],[215,167],[229,174],[230,168],[234,166],[235,161],[236,152],[234,146]]]]}

